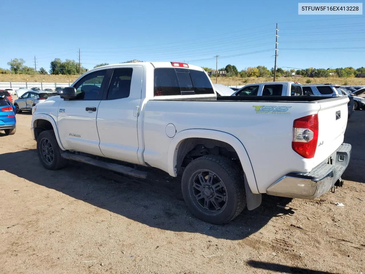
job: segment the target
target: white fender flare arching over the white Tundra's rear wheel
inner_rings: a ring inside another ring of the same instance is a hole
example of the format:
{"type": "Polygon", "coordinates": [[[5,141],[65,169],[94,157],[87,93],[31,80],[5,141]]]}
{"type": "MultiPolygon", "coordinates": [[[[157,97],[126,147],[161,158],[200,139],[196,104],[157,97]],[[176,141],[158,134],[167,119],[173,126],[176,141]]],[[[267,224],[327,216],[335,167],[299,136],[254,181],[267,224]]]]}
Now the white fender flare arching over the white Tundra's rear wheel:
{"type": "Polygon", "coordinates": [[[177,170],[176,170],[177,152],[181,142],[183,142],[187,138],[207,138],[230,144],[237,152],[239,160],[241,161],[242,169],[245,172],[245,178],[247,178],[246,182],[250,188],[250,192],[252,194],[259,194],[255,174],[251,165],[250,158],[245,149],[245,146],[243,146],[242,142],[239,141],[232,134],[222,132],[219,130],[187,129],[177,133],[170,142],[167,156],[168,173],[171,176],[173,177],[177,176],[177,170]]]}

